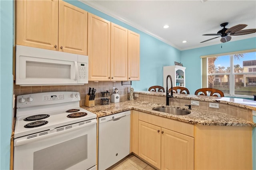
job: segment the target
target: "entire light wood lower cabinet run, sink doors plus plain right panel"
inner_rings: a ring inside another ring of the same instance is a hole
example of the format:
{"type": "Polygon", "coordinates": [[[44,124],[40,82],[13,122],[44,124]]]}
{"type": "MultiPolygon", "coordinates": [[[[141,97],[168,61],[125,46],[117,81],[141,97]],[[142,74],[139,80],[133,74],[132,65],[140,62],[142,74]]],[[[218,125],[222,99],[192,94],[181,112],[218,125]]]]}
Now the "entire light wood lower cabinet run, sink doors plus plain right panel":
{"type": "Polygon", "coordinates": [[[141,111],[131,125],[131,152],[158,169],[252,169],[252,127],[192,125],[141,111]]]}

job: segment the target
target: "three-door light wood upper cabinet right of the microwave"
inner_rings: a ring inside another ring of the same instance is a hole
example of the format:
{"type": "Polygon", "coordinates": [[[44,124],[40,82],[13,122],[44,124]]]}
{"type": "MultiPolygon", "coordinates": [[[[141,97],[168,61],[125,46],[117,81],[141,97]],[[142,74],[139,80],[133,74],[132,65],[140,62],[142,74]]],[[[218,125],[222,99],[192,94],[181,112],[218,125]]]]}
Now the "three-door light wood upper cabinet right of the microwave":
{"type": "Polygon", "coordinates": [[[90,13],[88,57],[89,81],[140,80],[140,35],[90,13]]]}

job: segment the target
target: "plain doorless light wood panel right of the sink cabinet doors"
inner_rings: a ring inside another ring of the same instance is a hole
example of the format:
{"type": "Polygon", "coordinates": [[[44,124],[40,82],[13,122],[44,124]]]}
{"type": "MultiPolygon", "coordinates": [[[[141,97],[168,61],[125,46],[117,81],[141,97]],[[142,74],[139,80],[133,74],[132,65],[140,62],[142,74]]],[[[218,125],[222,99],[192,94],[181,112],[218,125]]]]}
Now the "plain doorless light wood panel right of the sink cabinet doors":
{"type": "Polygon", "coordinates": [[[195,126],[195,169],[252,170],[252,127],[195,126]]]}

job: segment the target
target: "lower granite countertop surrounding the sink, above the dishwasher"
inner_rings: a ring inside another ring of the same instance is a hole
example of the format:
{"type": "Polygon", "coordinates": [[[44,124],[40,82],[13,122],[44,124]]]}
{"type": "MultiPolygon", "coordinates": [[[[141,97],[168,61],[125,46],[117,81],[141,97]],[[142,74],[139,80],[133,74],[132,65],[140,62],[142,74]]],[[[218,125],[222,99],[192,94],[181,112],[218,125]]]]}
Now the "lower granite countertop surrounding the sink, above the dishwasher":
{"type": "Polygon", "coordinates": [[[154,111],[154,107],[172,107],[188,110],[187,107],[180,106],[164,106],[164,104],[148,102],[143,100],[126,100],[119,103],[110,103],[109,105],[96,105],[94,107],[83,107],[84,109],[95,113],[97,117],[103,117],[114,113],[119,113],[127,110],[138,110],[145,113],[150,113],[194,125],[218,125],[218,126],[252,126],[256,127],[256,123],[228,115],[226,113],[207,111],[192,108],[188,115],[172,115],[160,111],[154,111]]]}

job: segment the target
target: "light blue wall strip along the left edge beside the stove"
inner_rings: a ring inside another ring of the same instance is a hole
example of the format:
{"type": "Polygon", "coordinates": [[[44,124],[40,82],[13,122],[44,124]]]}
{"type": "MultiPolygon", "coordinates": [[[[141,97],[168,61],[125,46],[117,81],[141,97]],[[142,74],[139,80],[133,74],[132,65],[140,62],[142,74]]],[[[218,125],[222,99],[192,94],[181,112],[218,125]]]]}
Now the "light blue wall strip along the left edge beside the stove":
{"type": "Polygon", "coordinates": [[[10,169],[13,1],[0,0],[0,169],[10,169]]]}

